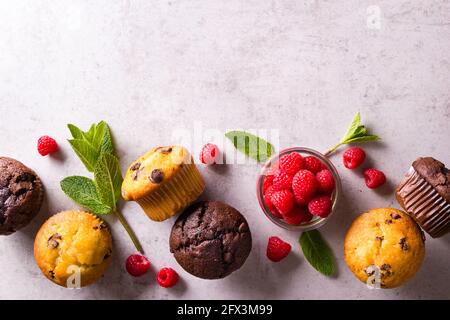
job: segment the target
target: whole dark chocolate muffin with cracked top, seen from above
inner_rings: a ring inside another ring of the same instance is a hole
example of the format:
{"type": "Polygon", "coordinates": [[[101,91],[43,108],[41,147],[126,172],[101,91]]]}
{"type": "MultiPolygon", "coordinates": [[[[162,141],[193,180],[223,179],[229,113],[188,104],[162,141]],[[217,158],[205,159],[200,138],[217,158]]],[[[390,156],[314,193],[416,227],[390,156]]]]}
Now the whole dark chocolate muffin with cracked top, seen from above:
{"type": "Polygon", "coordinates": [[[184,270],[203,279],[220,279],[239,269],[252,248],[247,221],[233,207],[203,201],[175,222],[170,252],[184,270]]]}

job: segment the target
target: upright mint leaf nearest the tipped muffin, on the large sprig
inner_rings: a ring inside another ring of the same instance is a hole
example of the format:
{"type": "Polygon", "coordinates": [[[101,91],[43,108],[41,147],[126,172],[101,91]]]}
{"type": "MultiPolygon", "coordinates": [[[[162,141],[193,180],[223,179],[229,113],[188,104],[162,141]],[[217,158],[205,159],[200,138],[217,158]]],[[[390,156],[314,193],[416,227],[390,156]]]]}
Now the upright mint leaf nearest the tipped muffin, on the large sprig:
{"type": "Polygon", "coordinates": [[[123,181],[117,157],[103,153],[95,166],[94,180],[102,202],[115,210],[123,181]]]}

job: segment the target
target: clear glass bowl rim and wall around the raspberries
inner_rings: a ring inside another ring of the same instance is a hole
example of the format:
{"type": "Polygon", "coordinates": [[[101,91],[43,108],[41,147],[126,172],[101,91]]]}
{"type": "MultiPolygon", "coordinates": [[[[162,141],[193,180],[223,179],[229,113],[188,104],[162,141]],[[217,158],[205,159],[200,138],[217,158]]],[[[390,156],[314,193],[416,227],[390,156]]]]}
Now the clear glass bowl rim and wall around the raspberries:
{"type": "Polygon", "coordinates": [[[256,183],[256,194],[258,196],[258,201],[261,206],[261,209],[264,211],[267,218],[269,218],[270,221],[272,221],[274,224],[276,224],[277,226],[279,226],[281,228],[284,228],[287,230],[294,230],[294,231],[308,231],[308,230],[317,229],[317,228],[323,226],[327,222],[327,220],[331,217],[331,215],[334,213],[334,211],[336,209],[336,205],[337,205],[337,202],[339,199],[339,195],[341,193],[341,189],[342,189],[341,179],[339,177],[339,174],[338,174],[336,168],[331,163],[331,161],[328,160],[328,158],[325,157],[322,153],[315,151],[313,149],[304,148],[304,147],[294,147],[294,148],[284,149],[280,153],[273,155],[264,164],[264,166],[261,169],[261,172],[258,176],[258,181],[256,183]],[[263,182],[264,182],[264,178],[266,176],[267,171],[272,167],[273,164],[275,164],[278,161],[278,159],[280,157],[282,157],[286,154],[289,154],[291,152],[298,152],[302,156],[314,156],[314,157],[318,158],[328,168],[328,170],[330,170],[331,174],[333,175],[336,187],[334,188],[334,191],[331,195],[332,209],[331,209],[331,213],[328,215],[328,217],[321,218],[321,217],[314,216],[313,219],[309,222],[302,223],[300,225],[291,225],[282,219],[276,218],[270,212],[269,208],[267,208],[266,204],[264,203],[264,194],[263,194],[262,187],[263,187],[263,182]]]}

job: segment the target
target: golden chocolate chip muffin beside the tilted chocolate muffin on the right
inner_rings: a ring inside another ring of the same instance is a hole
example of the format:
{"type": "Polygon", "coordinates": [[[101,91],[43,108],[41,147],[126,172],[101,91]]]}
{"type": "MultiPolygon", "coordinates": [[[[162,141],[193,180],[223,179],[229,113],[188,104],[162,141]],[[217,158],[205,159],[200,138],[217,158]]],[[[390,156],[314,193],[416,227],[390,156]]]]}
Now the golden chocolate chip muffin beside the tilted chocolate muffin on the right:
{"type": "Polygon", "coordinates": [[[356,218],[347,231],[344,256],[362,282],[394,288],[419,270],[425,256],[425,237],[403,211],[372,209],[356,218]]]}

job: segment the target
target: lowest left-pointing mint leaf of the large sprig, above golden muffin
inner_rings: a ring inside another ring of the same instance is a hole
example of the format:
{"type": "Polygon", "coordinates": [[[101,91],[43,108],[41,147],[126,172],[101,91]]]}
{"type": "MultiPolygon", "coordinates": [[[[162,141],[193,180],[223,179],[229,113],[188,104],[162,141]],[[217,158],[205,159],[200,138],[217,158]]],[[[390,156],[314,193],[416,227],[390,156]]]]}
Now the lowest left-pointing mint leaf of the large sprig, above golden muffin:
{"type": "Polygon", "coordinates": [[[111,212],[111,208],[100,200],[97,188],[91,179],[71,176],[64,178],[60,185],[69,198],[93,213],[107,214],[111,212]]]}

